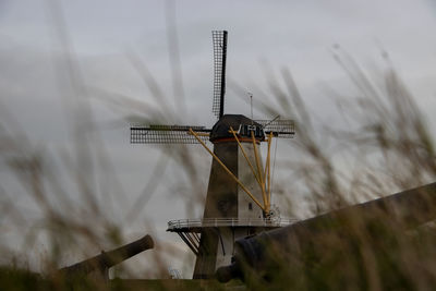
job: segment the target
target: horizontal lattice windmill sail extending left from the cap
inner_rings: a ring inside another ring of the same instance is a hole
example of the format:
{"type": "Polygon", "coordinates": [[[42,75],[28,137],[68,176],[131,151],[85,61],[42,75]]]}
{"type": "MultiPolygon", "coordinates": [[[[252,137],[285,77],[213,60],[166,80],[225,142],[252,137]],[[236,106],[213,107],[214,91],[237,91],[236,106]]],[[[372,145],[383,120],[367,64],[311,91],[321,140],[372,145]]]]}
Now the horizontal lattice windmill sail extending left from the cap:
{"type": "Polygon", "coordinates": [[[205,126],[190,125],[131,125],[131,144],[198,144],[190,134],[190,129],[199,134],[204,142],[209,141],[209,132],[205,126]]]}

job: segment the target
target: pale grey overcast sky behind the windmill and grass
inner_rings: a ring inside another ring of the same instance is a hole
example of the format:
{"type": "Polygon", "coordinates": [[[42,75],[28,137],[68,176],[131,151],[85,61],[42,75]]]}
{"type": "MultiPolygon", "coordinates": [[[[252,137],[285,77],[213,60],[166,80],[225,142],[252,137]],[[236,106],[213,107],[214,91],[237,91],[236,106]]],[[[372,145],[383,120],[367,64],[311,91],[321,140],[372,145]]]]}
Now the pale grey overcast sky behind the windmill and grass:
{"type": "MultiPolygon", "coordinates": [[[[431,132],[436,134],[436,5],[429,0],[0,0],[0,106],[20,122],[35,145],[53,150],[68,148],[71,136],[66,116],[72,106],[69,98],[74,94],[69,93],[71,84],[65,81],[66,68],[62,66],[66,48],[86,86],[158,108],[132,63],[132,56],[138,58],[171,100],[171,110],[178,112],[168,117],[169,122],[211,126],[214,29],[229,31],[228,80],[254,93],[255,104],[268,100],[258,89],[266,87],[265,63],[277,73],[289,68],[312,111],[326,122],[336,122],[336,113],[323,90],[325,85],[344,96],[354,94],[347,74],[332,58],[334,48],[340,46],[370,73],[384,68],[380,52],[387,51],[426,114],[431,132]],[[171,24],[175,24],[177,43],[168,38],[171,24]],[[174,44],[179,46],[184,89],[175,94],[170,65],[174,56],[170,57],[173,50],[169,49],[174,44]],[[183,96],[185,111],[178,106],[183,96]]],[[[129,124],[123,120],[128,110],[108,106],[111,102],[96,98],[93,90],[88,95],[124,193],[108,211],[114,220],[122,221],[147,183],[161,150],[130,145],[129,124]]],[[[226,112],[250,114],[243,98],[228,88],[226,112]]],[[[141,108],[135,111],[138,112],[141,108]]],[[[261,111],[255,111],[255,117],[270,118],[261,111]]],[[[0,122],[10,120],[0,116],[0,122]]],[[[196,163],[203,167],[204,177],[199,180],[204,189],[198,191],[206,193],[209,158],[199,147],[191,151],[201,157],[196,163]]],[[[173,175],[171,169],[166,171],[165,179],[171,185],[158,187],[141,219],[124,226],[124,234],[137,238],[152,231],[146,229],[150,223],[158,239],[183,247],[178,235],[165,232],[166,223],[170,219],[199,218],[202,207],[186,213],[184,197],[177,197],[173,192],[173,183],[179,181],[173,175]]],[[[0,183],[14,187],[5,171],[0,171],[0,183]]],[[[32,201],[20,198],[20,190],[12,192],[19,202],[33,208],[32,201]]],[[[4,223],[0,222],[1,228],[4,223]]],[[[16,230],[4,230],[8,231],[2,230],[1,235],[10,241],[19,237],[16,230]]],[[[187,253],[187,247],[184,250],[187,253]]],[[[183,257],[169,262],[169,266],[182,268],[183,257]]],[[[192,264],[193,259],[191,256],[189,262],[192,264]]],[[[183,276],[190,277],[192,266],[185,265],[189,266],[183,276]]]]}

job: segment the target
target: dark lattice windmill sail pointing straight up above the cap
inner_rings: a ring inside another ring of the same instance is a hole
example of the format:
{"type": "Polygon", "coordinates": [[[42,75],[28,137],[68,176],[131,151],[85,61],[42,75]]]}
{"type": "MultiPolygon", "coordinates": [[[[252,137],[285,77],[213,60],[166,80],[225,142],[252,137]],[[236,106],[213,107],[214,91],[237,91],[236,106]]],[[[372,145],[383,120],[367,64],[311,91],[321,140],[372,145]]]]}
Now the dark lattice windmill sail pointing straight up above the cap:
{"type": "Polygon", "coordinates": [[[214,43],[214,102],[211,111],[219,119],[225,113],[227,31],[211,32],[214,43]]]}

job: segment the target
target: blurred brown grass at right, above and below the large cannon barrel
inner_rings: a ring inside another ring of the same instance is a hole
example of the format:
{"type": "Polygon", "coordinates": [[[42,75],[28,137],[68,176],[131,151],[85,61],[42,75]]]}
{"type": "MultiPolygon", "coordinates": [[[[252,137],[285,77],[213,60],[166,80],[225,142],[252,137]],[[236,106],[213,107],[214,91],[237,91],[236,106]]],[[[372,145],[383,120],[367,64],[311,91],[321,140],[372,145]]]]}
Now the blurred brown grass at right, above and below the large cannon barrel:
{"type": "MultiPolygon", "coordinates": [[[[300,189],[283,189],[306,198],[312,216],[356,202],[392,194],[435,181],[435,147],[426,121],[413,96],[396,71],[388,66],[382,75],[367,75],[346,52],[335,56],[359,90],[358,97],[339,100],[347,122],[335,128],[329,122],[315,128],[313,117],[289,71],[282,84],[270,82],[276,106],[264,109],[296,119],[296,137],[287,163],[289,179],[300,189]],[[371,76],[371,77],[370,77],[371,76]],[[374,84],[382,84],[376,86],[374,84]],[[327,146],[328,138],[337,141],[327,146]],[[338,163],[337,153],[352,161],[352,168],[338,163]],[[301,158],[303,157],[303,158],[301,158]]],[[[386,57],[386,56],[385,56],[386,57]]],[[[337,95],[337,96],[343,96],[337,95]]],[[[298,203],[298,202],[296,202],[298,203]]],[[[298,210],[295,202],[291,204],[298,210]]],[[[419,210],[411,217],[420,216],[419,210]]],[[[307,231],[293,253],[268,248],[275,258],[269,277],[244,275],[251,290],[434,290],[434,222],[404,231],[389,222],[385,213],[359,216],[352,211],[332,220],[329,232],[307,231]],[[341,230],[341,231],[337,231],[341,230]]],[[[289,242],[291,244],[293,242],[289,242]]],[[[265,267],[265,269],[267,269],[265,267]]]]}

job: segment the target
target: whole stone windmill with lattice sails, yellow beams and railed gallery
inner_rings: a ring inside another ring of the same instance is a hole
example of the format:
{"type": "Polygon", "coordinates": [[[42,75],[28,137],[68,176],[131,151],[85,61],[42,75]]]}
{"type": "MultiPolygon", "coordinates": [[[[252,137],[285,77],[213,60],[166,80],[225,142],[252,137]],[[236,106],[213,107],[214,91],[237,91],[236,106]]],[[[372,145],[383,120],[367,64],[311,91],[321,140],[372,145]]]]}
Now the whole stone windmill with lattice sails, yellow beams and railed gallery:
{"type": "Polygon", "coordinates": [[[225,114],[227,35],[226,31],[213,32],[213,112],[218,121],[211,129],[131,126],[132,144],[199,144],[213,157],[203,219],[168,222],[168,231],[178,233],[196,255],[194,279],[210,278],[218,267],[229,265],[237,239],[290,223],[272,217],[269,153],[274,137],[293,137],[293,121],[225,114]],[[259,154],[262,142],[268,147],[265,167],[259,154]]]}

